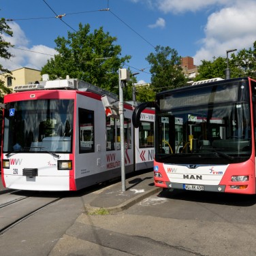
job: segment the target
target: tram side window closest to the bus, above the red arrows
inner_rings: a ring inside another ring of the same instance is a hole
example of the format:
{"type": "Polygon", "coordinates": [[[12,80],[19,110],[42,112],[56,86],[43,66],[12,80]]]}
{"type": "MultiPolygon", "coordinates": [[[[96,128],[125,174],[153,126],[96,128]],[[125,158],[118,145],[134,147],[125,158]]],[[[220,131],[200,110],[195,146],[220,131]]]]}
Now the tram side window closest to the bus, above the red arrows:
{"type": "Polygon", "coordinates": [[[154,146],[154,123],[140,122],[139,126],[140,148],[153,148],[154,146]]]}

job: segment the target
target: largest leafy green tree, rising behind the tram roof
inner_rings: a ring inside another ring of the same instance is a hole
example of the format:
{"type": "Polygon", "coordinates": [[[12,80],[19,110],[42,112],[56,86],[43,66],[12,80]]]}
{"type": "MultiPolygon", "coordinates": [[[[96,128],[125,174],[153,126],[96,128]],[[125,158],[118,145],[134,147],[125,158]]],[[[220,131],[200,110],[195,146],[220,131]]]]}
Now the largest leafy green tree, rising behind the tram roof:
{"type": "Polygon", "coordinates": [[[49,74],[50,79],[69,75],[118,93],[118,69],[131,57],[120,57],[116,37],[102,27],[90,33],[90,25],[80,23],[77,32],[68,32],[67,38],[57,37],[54,42],[58,54],[42,67],[41,74],[49,74]]]}

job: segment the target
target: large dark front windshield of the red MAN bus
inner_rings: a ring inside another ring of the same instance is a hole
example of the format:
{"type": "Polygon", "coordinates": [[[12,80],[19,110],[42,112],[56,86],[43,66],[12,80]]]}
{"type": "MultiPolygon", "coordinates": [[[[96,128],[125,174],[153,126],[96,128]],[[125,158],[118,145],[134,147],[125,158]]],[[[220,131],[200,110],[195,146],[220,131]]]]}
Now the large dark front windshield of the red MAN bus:
{"type": "Polygon", "coordinates": [[[223,81],[157,95],[156,161],[182,164],[187,157],[191,164],[228,164],[249,159],[249,84],[223,81]]]}

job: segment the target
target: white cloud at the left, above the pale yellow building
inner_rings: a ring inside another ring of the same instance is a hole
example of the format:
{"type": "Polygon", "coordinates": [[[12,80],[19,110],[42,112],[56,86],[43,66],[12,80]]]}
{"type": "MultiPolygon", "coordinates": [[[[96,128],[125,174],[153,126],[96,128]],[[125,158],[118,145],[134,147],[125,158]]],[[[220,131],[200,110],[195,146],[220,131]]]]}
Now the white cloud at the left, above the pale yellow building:
{"type": "Polygon", "coordinates": [[[2,36],[6,42],[14,45],[14,48],[9,48],[8,50],[14,57],[10,60],[0,58],[0,63],[4,68],[11,71],[20,67],[30,67],[40,70],[46,64],[47,60],[57,53],[53,48],[49,48],[48,46],[38,45],[29,48],[29,39],[20,26],[16,22],[11,22],[8,25],[10,25],[13,31],[13,36],[2,36]]]}

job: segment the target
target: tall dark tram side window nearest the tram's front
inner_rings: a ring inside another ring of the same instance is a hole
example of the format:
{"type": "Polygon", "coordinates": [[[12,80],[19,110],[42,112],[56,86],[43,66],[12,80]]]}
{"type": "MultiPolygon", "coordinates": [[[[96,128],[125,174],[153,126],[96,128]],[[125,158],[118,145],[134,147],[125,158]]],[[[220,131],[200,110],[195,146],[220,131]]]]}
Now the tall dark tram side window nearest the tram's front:
{"type": "Polygon", "coordinates": [[[94,112],[78,109],[79,115],[79,153],[94,152],[94,112]]]}

